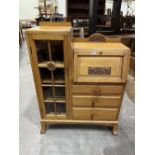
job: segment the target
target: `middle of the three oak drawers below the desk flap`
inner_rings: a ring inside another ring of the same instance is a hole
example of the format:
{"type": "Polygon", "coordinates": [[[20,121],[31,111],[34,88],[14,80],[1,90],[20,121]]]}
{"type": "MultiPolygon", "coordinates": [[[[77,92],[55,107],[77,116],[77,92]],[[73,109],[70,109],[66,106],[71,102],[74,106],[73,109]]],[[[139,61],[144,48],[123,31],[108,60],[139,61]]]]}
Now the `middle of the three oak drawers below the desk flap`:
{"type": "Polygon", "coordinates": [[[121,96],[73,96],[74,107],[118,107],[121,96]]]}

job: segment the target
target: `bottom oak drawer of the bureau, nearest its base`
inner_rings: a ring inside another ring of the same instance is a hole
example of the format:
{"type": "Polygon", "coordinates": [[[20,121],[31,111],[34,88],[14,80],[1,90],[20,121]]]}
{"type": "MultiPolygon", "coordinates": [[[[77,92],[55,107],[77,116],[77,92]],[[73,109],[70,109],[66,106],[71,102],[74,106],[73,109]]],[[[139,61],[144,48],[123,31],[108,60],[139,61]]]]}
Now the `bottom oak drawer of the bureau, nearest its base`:
{"type": "Polygon", "coordinates": [[[77,120],[117,120],[116,108],[73,108],[73,119],[77,120]]]}

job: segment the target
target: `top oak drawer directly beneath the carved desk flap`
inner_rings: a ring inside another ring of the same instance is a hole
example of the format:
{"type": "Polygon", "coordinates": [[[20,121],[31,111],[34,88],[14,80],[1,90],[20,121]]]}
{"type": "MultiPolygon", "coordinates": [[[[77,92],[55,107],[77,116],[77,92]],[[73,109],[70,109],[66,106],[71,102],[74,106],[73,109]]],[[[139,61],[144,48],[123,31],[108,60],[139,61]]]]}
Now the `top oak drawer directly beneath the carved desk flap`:
{"type": "Polygon", "coordinates": [[[104,95],[104,94],[122,94],[123,86],[110,85],[73,85],[73,94],[90,94],[90,95],[104,95]]]}

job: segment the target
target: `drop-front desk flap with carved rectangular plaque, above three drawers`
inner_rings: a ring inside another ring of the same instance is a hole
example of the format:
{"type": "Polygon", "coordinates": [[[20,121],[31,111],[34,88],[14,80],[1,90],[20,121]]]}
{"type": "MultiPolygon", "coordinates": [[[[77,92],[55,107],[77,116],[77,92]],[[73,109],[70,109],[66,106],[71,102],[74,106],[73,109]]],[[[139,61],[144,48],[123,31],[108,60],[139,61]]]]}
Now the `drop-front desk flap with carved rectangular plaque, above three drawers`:
{"type": "Polygon", "coordinates": [[[128,64],[126,51],[75,51],[74,82],[126,82],[128,64]]]}

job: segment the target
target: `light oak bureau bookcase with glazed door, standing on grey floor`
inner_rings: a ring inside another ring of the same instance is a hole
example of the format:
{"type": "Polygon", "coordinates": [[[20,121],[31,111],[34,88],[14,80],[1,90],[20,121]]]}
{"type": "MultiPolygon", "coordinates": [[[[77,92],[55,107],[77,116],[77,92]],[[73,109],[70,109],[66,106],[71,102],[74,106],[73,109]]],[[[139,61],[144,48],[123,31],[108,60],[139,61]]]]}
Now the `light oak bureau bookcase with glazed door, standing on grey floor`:
{"type": "Polygon", "coordinates": [[[41,133],[49,124],[96,124],[116,134],[130,50],[122,43],[73,41],[71,29],[26,31],[41,133]]]}

